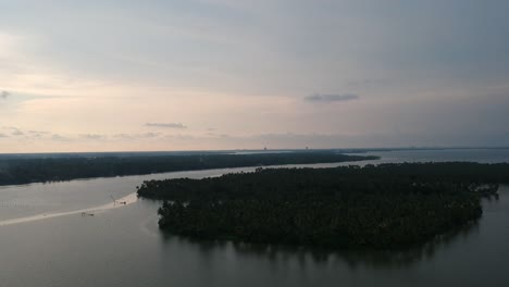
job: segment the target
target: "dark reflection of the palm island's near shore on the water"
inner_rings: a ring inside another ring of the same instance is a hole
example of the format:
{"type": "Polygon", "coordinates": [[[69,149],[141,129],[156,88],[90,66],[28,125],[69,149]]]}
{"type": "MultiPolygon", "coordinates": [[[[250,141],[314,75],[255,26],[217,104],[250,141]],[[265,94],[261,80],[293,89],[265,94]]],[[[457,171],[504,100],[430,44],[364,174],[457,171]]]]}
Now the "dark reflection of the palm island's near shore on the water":
{"type": "Polygon", "coordinates": [[[165,245],[187,246],[196,249],[203,257],[215,252],[231,253],[237,257],[266,259],[280,263],[298,262],[305,267],[307,262],[313,264],[334,265],[346,263],[351,270],[359,265],[372,269],[410,269],[413,263],[431,260],[435,253],[447,249],[458,240],[464,240],[472,234],[479,234],[479,221],[472,221],[465,226],[435,237],[427,244],[405,250],[330,250],[297,246],[276,246],[236,242],[231,240],[199,240],[161,232],[165,245]]]}

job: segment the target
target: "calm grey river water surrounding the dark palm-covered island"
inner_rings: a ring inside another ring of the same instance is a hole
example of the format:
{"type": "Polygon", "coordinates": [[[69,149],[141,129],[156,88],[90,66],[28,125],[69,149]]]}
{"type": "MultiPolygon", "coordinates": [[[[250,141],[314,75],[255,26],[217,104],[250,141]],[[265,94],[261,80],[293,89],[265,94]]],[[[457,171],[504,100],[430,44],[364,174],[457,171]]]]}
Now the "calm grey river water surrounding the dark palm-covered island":
{"type": "MultiPolygon", "coordinates": [[[[374,152],[381,161],[509,162],[509,150],[374,152]]],[[[375,163],[373,162],[373,163],[375,163]]],[[[323,164],[314,166],[334,166],[323,164]]],[[[509,187],[482,220],[406,252],[335,252],[162,235],[158,202],[104,207],[144,179],[216,176],[214,170],[0,188],[0,286],[509,286],[509,187]],[[96,208],[98,207],[98,208],[96,208]],[[99,208],[100,207],[100,208],[99,208]]]]}

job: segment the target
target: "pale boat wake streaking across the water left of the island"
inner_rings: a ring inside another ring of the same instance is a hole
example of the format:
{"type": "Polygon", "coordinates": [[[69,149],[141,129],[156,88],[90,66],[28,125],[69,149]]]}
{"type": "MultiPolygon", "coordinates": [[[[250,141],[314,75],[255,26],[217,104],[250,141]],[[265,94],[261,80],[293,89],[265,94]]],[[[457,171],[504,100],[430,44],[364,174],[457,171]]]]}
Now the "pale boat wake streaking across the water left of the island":
{"type": "Polygon", "coordinates": [[[4,220],[4,221],[0,221],[0,226],[42,221],[47,219],[53,219],[53,217],[73,215],[73,214],[91,216],[97,213],[101,213],[108,210],[117,209],[117,208],[122,208],[122,207],[135,203],[136,201],[138,201],[138,197],[136,196],[136,194],[131,194],[128,196],[114,200],[113,202],[104,204],[104,205],[99,205],[99,207],[88,208],[88,209],[80,209],[80,210],[73,210],[73,211],[64,211],[64,212],[42,213],[42,214],[37,214],[37,215],[32,215],[32,216],[26,216],[26,217],[4,220]]]}

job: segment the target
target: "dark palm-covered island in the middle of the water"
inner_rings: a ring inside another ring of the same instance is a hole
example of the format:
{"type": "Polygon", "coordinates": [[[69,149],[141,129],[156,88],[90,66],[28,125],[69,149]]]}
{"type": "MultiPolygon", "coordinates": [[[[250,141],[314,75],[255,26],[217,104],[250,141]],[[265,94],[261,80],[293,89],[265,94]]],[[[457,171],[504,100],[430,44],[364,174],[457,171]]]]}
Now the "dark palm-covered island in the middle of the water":
{"type": "Polygon", "coordinates": [[[509,183],[509,164],[401,163],[149,180],[138,195],[164,200],[159,226],[172,234],[384,249],[475,221],[498,183],[509,183]]]}

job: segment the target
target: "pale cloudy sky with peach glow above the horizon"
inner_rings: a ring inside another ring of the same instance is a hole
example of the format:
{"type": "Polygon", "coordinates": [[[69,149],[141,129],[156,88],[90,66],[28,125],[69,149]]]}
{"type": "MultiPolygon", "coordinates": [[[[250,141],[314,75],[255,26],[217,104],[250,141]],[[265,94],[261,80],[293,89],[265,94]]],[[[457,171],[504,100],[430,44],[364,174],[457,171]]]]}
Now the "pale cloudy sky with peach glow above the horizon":
{"type": "Polygon", "coordinates": [[[509,146],[506,0],[0,0],[0,153],[509,146]]]}

